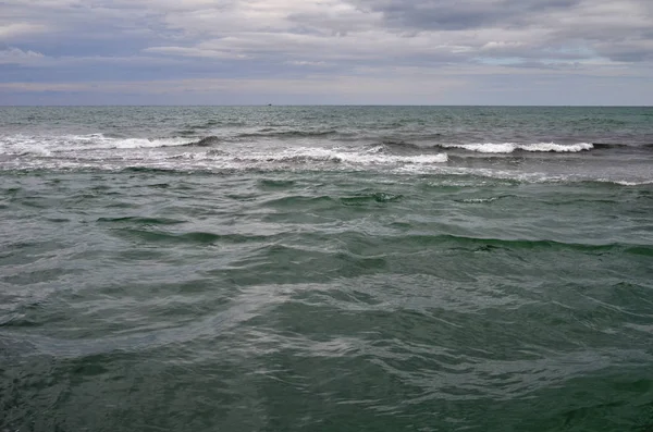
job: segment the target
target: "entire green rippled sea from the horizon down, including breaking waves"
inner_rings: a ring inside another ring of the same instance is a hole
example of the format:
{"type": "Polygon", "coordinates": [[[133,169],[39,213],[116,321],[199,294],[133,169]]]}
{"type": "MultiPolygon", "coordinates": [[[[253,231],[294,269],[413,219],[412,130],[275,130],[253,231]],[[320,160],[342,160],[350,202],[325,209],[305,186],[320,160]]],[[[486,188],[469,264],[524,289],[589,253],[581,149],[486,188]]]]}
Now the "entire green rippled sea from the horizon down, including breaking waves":
{"type": "Polygon", "coordinates": [[[0,431],[653,431],[653,108],[0,108],[0,431]]]}

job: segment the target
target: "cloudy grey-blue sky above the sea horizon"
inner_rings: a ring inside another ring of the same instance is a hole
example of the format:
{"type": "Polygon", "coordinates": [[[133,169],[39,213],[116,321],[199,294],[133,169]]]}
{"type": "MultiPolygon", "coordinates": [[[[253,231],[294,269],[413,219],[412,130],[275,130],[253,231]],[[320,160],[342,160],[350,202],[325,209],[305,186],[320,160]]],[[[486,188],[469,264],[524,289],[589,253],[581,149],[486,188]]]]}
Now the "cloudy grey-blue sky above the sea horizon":
{"type": "Polygon", "coordinates": [[[653,104],[653,0],[0,0],[0,104],[653,104]]]}

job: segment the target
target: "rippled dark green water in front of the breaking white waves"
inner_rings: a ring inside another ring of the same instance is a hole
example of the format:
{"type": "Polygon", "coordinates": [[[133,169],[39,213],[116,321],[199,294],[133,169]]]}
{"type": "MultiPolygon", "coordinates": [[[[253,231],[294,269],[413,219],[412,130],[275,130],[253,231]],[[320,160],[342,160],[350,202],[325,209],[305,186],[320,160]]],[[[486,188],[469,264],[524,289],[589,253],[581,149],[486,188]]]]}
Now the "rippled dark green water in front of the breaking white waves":
{"type": "Polygon", "coordinates": [[[653,423],[642,190],[350,172],[54,176],[10,186],[42,214],[2,209],[2,428],[653,423]]]}

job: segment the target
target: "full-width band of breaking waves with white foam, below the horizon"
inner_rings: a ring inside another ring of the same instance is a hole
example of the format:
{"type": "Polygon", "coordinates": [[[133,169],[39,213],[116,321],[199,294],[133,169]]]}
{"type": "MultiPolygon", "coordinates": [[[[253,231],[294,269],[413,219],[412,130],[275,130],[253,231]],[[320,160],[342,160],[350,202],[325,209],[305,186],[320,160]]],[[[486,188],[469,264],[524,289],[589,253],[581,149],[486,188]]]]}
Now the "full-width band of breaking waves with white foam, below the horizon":
{"type": "MultiPolygon", "coordinates": [[[[222,135],[196,137],[125,138],[103,134],[66,136],[0,137],[0,170],[106,170],[153,169],[180,172],[242,171],[370,171],[407,175],[488,178],[517,183],[601,182],[618,186],[653,183],[645,166],[630,164],[629,170],[590,170],[578,166],[577,158],[567,169],[560,158],[552,164],[537,158],[530,163],[523,156],[490,158],[477,153],[579,152],[595,148],[592,144],[443,144],[422,147],[402,139],[373,143],[326,144],[326,140],[237,141],[222,135]],[[449,151],[443,148],[461,149],[449,151]],[[488,160],[491,159],[491,163],[488,160]],[[576,163],[576,164],[575,164],[576,163]]],[[[631,163],[627,159],[627,163],[631,163]]],[[[596,162],[602,162],[596,159],[596,162]]],[[[612,163],[612,161],[607,161],[612,163]]],[[[639,163],[639,162],[638,162],[639,163]]]]}

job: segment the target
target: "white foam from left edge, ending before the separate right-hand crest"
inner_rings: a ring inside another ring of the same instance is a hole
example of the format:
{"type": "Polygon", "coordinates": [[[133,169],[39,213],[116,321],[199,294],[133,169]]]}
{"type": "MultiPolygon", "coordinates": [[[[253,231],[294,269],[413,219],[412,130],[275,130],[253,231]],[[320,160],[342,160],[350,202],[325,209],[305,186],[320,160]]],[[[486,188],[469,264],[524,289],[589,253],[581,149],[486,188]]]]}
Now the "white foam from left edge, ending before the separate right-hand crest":
{"type": "Polygon", "coordinates": [[[288,147],[254,145],[219,149],[183,147],[197,138],[113,138],[101,134],[0,137],[0,155],[9,155],[3,168],[114,170],[127,166],[171,170],[401,170],[448,160],[446,153],[389,155],[382,147],[288,147]],[[181,151],[180,151],[181,150],[181,151]]]}

